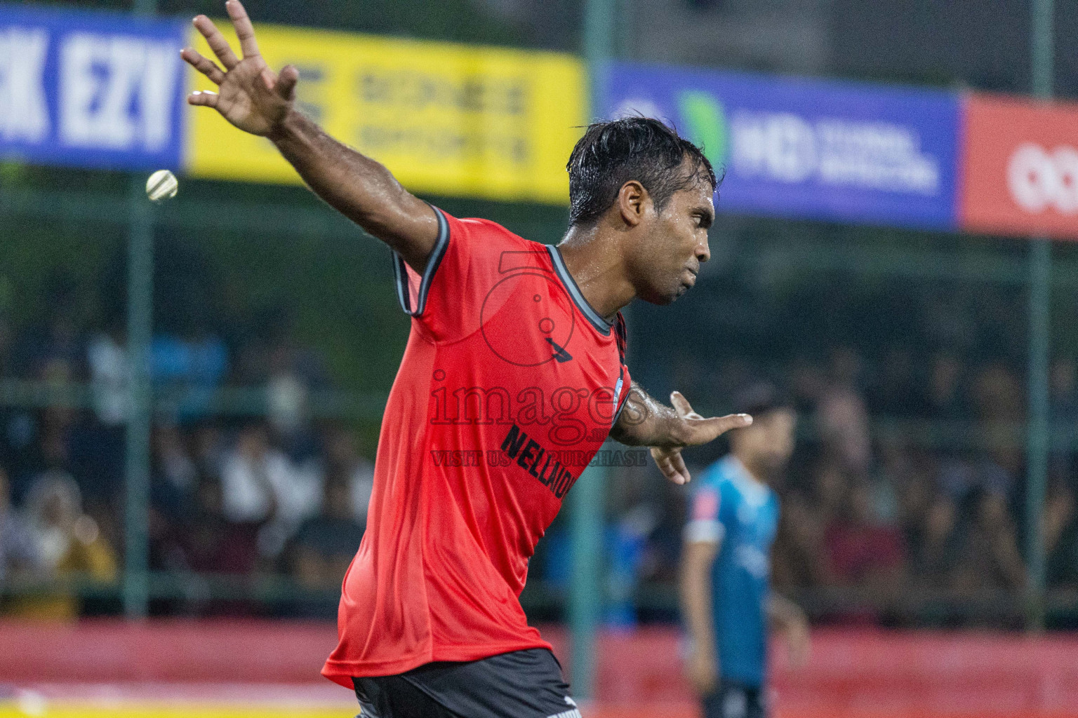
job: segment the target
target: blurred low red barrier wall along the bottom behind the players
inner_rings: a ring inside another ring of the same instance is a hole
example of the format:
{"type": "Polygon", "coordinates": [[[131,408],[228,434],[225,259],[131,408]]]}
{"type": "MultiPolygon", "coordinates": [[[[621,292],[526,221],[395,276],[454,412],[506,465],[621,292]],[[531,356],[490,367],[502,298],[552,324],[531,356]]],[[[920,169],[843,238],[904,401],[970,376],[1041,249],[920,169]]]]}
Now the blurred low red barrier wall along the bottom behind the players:
{"type": "MultiPolygon", "coordinates": [[[[568,656],[563,631],[543,634],[568,656]]],[[[0,623],[0,682],[320,682],[335,640],[286,621],[0,623]]],[[[773,654],[780,717],[1078,716],[1078,637],[828,630],[806,668],[773,654]]],[[[607,706],[692,713],[672,629],[604,635],[597,680],[607,706]]]]}

